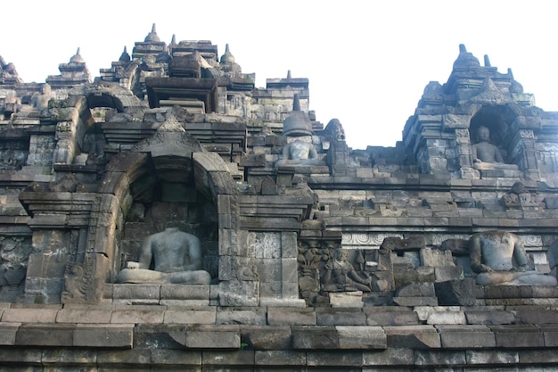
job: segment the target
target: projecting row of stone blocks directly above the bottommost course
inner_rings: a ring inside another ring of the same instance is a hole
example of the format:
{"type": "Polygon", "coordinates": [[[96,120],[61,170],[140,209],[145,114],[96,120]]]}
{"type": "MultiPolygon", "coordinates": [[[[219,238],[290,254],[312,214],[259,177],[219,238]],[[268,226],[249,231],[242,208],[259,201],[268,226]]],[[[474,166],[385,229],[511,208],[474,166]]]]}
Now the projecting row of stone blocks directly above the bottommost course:
{"type": "MultiPolygon", "coordinates": [[[[135,335],[169,335],[190,349],[384,350],[554,348],[558,325],[263,326],[0,323],[0,345],[132,348],[135,335]],[[182,341],[180,341],[182,340],[182,341]],[[242,340],[242,341],[241,341],[242,340]],[[242,346],[244,345],[244,346],[242,346]]],[[[161,343],[164,344],[164,343],[161,343]]],[[[161,346],[164,347],[164,346],[161,346]]]]}

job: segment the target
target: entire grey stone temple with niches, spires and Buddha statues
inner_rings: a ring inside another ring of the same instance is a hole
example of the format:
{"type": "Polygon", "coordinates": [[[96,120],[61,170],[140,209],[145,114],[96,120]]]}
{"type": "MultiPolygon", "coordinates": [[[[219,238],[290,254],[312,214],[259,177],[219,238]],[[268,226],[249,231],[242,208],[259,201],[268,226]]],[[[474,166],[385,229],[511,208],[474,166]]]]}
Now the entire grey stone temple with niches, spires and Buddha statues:
{"type": "Polygon", "coordinates": [[[558,112],[460,45],[353,150],[231,50],[0,57],[1,370],[558,370],[558,112]]]}

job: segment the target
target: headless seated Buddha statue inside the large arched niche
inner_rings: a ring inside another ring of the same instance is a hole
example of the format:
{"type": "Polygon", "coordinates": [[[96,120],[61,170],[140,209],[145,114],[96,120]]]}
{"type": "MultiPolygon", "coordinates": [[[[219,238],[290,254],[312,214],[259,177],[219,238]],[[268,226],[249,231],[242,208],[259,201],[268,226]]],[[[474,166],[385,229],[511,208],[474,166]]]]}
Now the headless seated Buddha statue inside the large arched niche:
{"type": "Polygon", "coordinates": [[[178,227],[145,238],[139,261],[128,261],[117,278],[117,283],[209,285],[210,281],[209,272],[201,270],[200,239],[178,227]]]}

